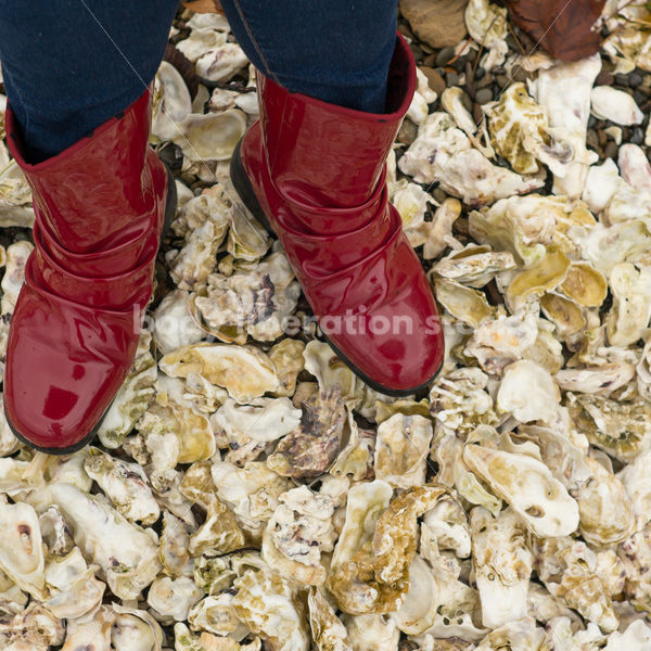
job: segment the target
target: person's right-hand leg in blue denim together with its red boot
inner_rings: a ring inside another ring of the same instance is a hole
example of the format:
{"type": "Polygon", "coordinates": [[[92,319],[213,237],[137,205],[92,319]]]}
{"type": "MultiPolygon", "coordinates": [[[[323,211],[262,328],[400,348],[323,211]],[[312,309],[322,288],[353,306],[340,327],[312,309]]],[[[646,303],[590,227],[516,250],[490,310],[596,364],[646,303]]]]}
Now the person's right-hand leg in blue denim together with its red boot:
{"type": "Polygon", "coordinates": [[[395,1],[222,5],[260,69],[260,119],[231,159],[240,197],[278,235],[339,357],[383,394],[425,388],[442,329],[385,183],[417,82],[395,1]]]}

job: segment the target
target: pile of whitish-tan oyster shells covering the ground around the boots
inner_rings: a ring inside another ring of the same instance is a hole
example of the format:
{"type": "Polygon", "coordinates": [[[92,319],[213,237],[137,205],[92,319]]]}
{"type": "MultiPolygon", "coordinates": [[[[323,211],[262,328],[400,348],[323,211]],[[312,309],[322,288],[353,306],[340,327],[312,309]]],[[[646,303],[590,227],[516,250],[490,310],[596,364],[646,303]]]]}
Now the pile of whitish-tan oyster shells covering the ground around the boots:
{"type": "MultiPolygon", "coordinates": [[[[480,124],[462,78],[438,98],[419,75],[390,193],[447,345],[411,399],[319,340],[228,179],[255,77],[222,16],[182,15],[201,84],[156,79],[180,202],[129,376],[72,456],[0,422],[1,649],[651,649],[651,132],[617,161],[586,145],[590,112],[647,120],[595,80],[651,72],[651,13],[604,15],[601,53],[560,64],[471,0],[458,53],[529,73],[480,124]]],[[[34,215],[0,156],[5,344],[34,215]]]]}

